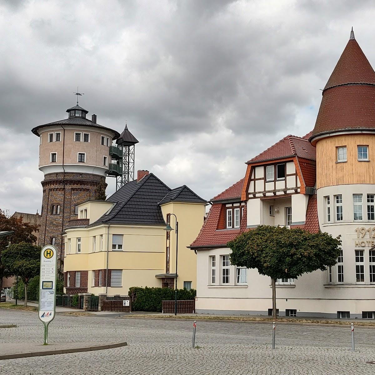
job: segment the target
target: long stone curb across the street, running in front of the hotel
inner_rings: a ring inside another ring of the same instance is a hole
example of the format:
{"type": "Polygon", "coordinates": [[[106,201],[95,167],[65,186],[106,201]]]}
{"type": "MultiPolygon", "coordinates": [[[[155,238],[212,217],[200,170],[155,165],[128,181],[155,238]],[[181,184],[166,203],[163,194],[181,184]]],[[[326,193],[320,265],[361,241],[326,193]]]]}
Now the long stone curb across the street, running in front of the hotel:
{"type": "MultiPolygon", "coordinates": [[[[199,319],[199,318],[144,318],[144,317],[121,317],[121,319],[143,319],[143,320],[171,320],[171,321],[192,321],[196,320],[197,322],[212,322],[212,323],[257,323],[257,324],[272,324],[272,321],[257,321],[257,320],[223,320],[223,319],[199,319]]],[[[351,322],[350,322],[351,323],[351,322]]],[[[281,322],[276,321],[278,324],[286,324],[290,326],[312,326],[312,327],[335,327],[335,328],[348,328],[348,324],[326,324],[326,323],[302,323],[302,322],[281,322]]],[[[354,324],[354,327],[363,328],[363,329],[375,329],[375,326],[360,326],[354,324]]]]}

